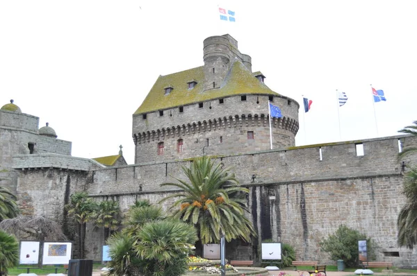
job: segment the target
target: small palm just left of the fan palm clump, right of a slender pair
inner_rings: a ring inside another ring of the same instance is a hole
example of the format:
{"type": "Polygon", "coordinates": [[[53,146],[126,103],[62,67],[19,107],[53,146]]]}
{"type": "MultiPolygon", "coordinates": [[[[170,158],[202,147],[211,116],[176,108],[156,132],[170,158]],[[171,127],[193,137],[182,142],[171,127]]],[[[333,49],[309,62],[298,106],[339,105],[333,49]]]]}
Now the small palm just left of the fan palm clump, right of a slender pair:
{"type": "Polygon", "coordinates": [[[117,230],[120,225],[120,205],[115,200],[99,202],[95,224],[104,227],[104,241],[108,239],[111,232],[117,230]]]}

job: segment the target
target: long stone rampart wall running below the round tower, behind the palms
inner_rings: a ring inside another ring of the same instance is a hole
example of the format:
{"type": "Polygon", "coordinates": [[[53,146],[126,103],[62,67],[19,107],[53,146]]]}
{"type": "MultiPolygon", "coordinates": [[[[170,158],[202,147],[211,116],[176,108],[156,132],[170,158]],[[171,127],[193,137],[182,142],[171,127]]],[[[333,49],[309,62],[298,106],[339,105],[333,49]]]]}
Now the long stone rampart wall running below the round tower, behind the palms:
{"type": "MultiPolygon", "coordinates": [[[[233,166],[240,183],[250,188],[247,203],[259,233],[254,248],[239,245],[245,250],[229,250],[227,258],[257,259],[261,241],[272,239],[293,245],[297,259],[332,264],[320,252],[319,242],[345,224],[375,240],[377,260],[413,266],[416,250],[396,245],[396,220],[404,202],[398,141],[402,146],[416,143],[415,138],[398,136],[215,157],[224,166],[233,166]],[[357,156],[356,144],[363,145],[363,156],[357,156]],[[400,257],[392,257],[395,254],[400,257]]],[[[417,157],[405,162],[417,162],[417,157]]],[[[124,210],[137,198],[158,204],[174,192],[159,184],[174,182],[171,175],[183,179],[181,166],[189,164],[183,160],[98,170],[88,192],[97,200],[117,199],[124,210]]],[[[96,259],[101,256],[99,231],[90,228],[88,239],[96,248],[90,257],[96,259]]]]}

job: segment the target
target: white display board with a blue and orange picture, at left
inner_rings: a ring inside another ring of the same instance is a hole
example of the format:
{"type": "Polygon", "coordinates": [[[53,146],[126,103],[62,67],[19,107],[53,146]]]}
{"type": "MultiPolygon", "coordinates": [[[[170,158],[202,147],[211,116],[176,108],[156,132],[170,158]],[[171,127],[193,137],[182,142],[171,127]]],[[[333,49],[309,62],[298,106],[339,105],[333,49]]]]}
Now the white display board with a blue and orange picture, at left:
{"type": "Polygon", "coordinates": [[[71,241],[45,241],[42,264],[68,264],[72,255],[71,241]]]}

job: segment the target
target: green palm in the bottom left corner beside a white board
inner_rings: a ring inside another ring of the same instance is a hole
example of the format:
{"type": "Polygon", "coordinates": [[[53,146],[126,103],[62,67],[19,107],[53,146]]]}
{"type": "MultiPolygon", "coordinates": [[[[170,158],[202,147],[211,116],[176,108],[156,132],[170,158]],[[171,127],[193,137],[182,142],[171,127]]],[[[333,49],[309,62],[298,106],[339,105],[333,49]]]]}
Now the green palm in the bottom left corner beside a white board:
{"type": "Polygon", "coordinates": [[[0,230],[0,276],[8,275],[8,268],[19,263],[19,243],[17,239],[0,230]]]}

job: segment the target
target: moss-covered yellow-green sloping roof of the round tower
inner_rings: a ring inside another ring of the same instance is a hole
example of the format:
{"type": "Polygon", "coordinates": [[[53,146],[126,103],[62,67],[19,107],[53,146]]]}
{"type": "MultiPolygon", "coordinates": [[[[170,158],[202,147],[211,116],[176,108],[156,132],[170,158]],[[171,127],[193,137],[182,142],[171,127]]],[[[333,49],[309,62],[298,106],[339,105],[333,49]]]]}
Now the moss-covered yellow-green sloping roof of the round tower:
{"type": "MultiPolygon", "coordinates": [[[[261,73],[261,72],[259,72],[261,73]]],[[[242,94],[279,95],[265,83],[261,83],[251,71],[239,60],[235,60],[220,88],[204,91],[204,67],[196,67],[174,74],[159,76],[142,105],[134,114],[144,114],[156,110],[166,110],[181,105],[189,105],[215,98],[242,94]],[[188,89],[188,83],[194,80],[197,85],[188,89]],[[165,95],[165,88],[172,87],[172,92],[165,95]]]]}

